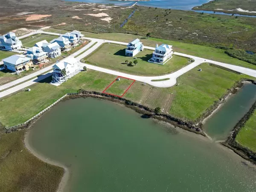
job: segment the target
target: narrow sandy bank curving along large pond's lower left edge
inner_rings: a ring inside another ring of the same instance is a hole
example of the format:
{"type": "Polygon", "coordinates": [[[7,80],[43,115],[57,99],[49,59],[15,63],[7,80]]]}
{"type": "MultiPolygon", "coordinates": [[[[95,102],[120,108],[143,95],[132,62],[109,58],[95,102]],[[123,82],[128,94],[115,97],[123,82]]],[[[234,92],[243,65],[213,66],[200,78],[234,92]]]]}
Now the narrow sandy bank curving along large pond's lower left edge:
{"type": "Polygon", "coordinates": [[[59,183],[58,190],[57,190],[57,192],[63,192],[65,186],[67,185],[67,181],[69,180],[69,170],[68,170],[68,168],[66,166],[64,166],[63,164],[59,163],[59,162],[56,162],[56,161],[53,161],[53,160],[49,160],[47,157],[44,157],[43,155],[41,155],[37,151],[35,151],[29,145],[29,142],[28,142],[29,132],[30,132],[30,130],[28,130],[26,132],[25,137],[24,137],[24,145],[29,150],[29,152],[32,153],[38,159],[44,161],[45,163],[49,163],[51,165],[59,166],[59,167],[62,167],[64,169],[64,175],[61,178],[61,181],[59,183]]]}

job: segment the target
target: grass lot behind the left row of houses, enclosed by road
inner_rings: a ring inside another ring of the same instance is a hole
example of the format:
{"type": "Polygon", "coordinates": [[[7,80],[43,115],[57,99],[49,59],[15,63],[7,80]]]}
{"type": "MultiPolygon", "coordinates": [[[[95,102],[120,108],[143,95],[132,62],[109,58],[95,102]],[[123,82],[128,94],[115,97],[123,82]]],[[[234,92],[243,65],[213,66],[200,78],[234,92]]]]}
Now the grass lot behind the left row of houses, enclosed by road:
{"type": "Polygon", "coordinates": [[[37,34],[21,39],[23,47],[33,47],[39,41],[52,41],[52,39],[58,38],[56,35],[37,34]],[[32,38],[33,36],[33,38],[32,38]]]}

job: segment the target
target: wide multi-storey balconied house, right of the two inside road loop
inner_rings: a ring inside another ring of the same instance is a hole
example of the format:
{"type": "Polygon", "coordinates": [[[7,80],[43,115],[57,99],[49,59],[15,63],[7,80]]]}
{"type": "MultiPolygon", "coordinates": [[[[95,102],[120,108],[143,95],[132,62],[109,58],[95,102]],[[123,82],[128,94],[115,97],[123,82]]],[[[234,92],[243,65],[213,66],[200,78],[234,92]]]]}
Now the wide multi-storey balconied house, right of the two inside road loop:
{"type": "Polygon", "coordinates": [[[156,49],[153,52],[153,56],[148,60],[148,62],[163,65],[170,58],[172,58],[172,54],[172,45],[162,44],[158,46],[158,44],[156,44],[156,49]]]}

